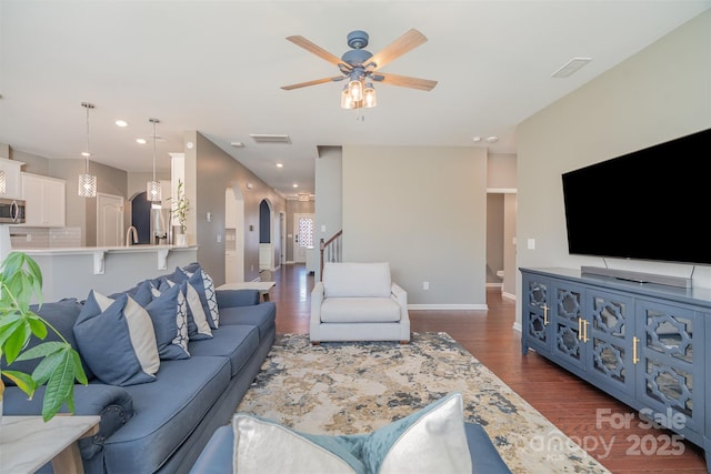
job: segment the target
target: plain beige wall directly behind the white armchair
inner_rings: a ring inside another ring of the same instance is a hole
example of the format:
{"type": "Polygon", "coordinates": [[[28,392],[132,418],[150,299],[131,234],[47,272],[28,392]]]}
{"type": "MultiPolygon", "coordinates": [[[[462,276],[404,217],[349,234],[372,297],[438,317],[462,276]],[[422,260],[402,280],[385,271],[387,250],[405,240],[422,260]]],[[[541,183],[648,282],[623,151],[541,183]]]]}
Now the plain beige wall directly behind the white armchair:
{"type": "Polygon", "coordinates": [[[389,261],[411,307],[485,307],[485,149],[343,147],[342,167],[344,261],[389,261]]]}

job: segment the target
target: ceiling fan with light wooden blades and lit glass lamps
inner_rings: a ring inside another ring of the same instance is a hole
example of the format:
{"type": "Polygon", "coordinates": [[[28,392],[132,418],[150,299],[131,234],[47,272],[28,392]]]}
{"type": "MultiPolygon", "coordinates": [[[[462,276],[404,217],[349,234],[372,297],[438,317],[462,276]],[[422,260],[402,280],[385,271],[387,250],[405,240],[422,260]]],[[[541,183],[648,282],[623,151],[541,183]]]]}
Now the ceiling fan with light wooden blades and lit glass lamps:
{"type": "Polygon", "coordinates": [[[319,58],[337,65],[341,75],[283,85],[281,89],[289,91],[292,89],[306,88],[308,85],[342,81],[348,78],[349,83],[341,92],[341,107],[344,109],[358,109],[361,107],[375,105],[375,90],[372,85],[373,81],[403,88],[419,89],[422,91],[430,91],[434,85],[437,85],[437,81],[429,79],[411,78],[409,75],[398,75],[380,71],[380,68],[383,65],[400,58],[405,52],[427,41],[424,34],[418,30],[409,30],[375,54],[364,49],[368,46],[369,39],[367,32],[360,30],[351,31],[348,33],[347,39],[348,46],[351,49],[346,51],[341,58],[338,58],[303,37],[288,37],[287,40],[298,47],[301,47],[319,58]]]}

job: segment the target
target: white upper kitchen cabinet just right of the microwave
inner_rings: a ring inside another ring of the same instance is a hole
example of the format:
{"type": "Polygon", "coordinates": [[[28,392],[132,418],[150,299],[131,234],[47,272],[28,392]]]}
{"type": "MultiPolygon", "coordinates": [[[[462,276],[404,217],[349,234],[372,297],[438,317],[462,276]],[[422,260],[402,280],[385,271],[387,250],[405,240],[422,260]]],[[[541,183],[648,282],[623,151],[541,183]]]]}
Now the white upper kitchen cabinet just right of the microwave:
{"type": "Polygon", "coordinates": [[[66,188],[64,180],[22,173],[22,199],[26,203],[24,225],[63,228],[66,188]]]}

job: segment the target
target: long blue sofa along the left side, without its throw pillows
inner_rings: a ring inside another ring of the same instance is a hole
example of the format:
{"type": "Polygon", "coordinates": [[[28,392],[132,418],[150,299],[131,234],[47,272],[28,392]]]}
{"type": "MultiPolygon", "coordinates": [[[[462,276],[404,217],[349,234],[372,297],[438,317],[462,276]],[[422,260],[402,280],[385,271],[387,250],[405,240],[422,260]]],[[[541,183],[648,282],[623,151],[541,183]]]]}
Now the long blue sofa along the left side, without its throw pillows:
{"type": "MultiPolygon", "coordinates": [[[[190,270],[194,272],[199,269],[196,265],[190,270]]],[[[176,269],[176,274],[179,271],[176,269]]],[[[159,279],[153,279],[150,283],[157,295],[157,289],[164,285],[166,281],[161,283],[159,279]]],[[[138,301],[140,286],[126,293],[138,301]]],[[[92,295],[83,302],[69,299],[44,303],[37,309],[79,351],[90,380],[87,386],[74,386],[76,414],[101,416],[99,433],[80,441],[87,473],[189,472],[214,431],[229,423],[273,344],[277,311],[274,303],[260,302],[256,290],[212,291],[212,294],[208,292],[208,299],[213,306],[217,303],[219,325],[211,327],[211,336],[202,340],[191,336],[183,341],[187,342],[189,355],[164,360],[161,350],[160,367],[149,376],[151,381],[144,383],[110,384],[103,382],[108,375],[94,373],[93,370],[101,369],[101,364],[96,364],[100,359],[96,354],[101,351],[109,354],[110,351],[102,346],[101,341],[93,343],[92,340],[102,339],[106,343],[112,337],[87,335],[88,323],[100,321],[92,320],[96,314],[88,315],[91,313],[89,306],[96,303],[92,295]],[[84,332],[78,327],[83,327],[84,332]]],[[[117,302],[127,300],[121,293],[111,297],[117,302]]],[[[96,300],[100,299],[97,296],[96,300]]],[[[204,295],[202,303],[206,303],[204,295]]],[[[124,307],[128,309],[128,305],[124,307]]],[[[146,307],[150,312],[151,306],[146,307]]],[[[216,307],[212,310],[216,311],[216,307]]],[[[99,311],[102,317],[111,312],[109,309],[99,311]]],[[[209,313],[207,306],[206,313],[209,313]]],[[[117,321],[126,316],[121,312],[118,314],[117,321]]],[[[153,317],[153,313],[150,315],[153,317]]],[[[194,321],[191,324],[194,330],[194,321]]],[[[107,324],[101,322],[94,326],[102,331],[107,324]]],[[[156,325],[159,347],[161,331],[156,325]]],[[[131,362],[122,362],[120,366],[131,362]]],[[[31,372],[32,363],[16,362],[12,369],[31,372]]],[[[4,392],[4,414],[40,414],[43,390],[41,387],[38,395],[28,401],[17,386],[8,386],[4,392]]],[[[44,466],[42,472],[51,472],[51,466],[44,466]]]]}

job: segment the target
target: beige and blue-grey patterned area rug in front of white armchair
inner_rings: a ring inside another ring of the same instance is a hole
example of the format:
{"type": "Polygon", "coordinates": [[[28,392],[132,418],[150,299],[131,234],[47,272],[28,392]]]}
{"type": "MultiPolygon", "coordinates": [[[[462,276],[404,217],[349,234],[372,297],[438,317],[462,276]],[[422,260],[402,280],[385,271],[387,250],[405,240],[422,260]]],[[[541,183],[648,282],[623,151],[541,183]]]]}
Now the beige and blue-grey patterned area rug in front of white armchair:
{"type": "Polygon", "coordinates": [[[238,411],[307,433],[370,433],[451,392],[512,472],[608,472],[447,333],[405,345],[279,335],[238,411]]]}

